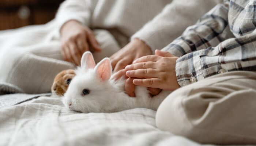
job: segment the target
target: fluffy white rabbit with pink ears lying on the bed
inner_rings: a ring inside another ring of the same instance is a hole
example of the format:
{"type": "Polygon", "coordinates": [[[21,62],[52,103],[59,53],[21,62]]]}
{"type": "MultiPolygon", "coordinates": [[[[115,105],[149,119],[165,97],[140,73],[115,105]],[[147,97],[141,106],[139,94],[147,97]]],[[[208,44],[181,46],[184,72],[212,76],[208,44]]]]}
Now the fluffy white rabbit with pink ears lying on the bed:
{"type": "Polygon", "coordinates": [[[125,79],[110,79],[112,67],[109,58],[104,58],[95,66],[93,55],[87,51],[81,59],[81,67],[76,71],[64,94],[63,103],[79,112],[117,112],[131,108],[157,110],[170,91],[162,91],[150,97],[147,88],[135,87],[136,97],[124,93],[125,79]]]}

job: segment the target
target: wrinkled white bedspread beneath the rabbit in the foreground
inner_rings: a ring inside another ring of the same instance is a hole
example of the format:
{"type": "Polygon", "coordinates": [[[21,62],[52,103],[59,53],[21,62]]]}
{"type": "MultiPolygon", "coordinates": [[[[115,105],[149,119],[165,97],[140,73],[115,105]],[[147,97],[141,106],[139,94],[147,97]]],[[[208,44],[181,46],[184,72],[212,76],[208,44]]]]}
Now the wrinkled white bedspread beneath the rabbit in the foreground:
{"type": "MultiPolygon", "coordinates": [[[[170,123],[172,124],[172,123],[170,123]]],[[[155,111],[69,111],[60,98],[39,97],[0,109],[1,146],[198,146],[155,126],[155,111]]]]}

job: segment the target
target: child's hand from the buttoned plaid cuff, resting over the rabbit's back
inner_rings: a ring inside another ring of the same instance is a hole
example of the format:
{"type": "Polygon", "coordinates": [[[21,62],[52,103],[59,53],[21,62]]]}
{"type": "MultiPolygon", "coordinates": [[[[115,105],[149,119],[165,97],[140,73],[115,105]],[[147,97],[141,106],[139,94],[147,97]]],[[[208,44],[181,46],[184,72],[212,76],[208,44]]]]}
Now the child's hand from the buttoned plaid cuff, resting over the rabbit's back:
{"type": "Polygon", "coordinates": [[[126,66],[126,76],[136,78],[132,82],[138,86],[170,91],[179,88],[175,70],[178,57],[160,50],[156,50],[156,54],[161,56],[147,55],[136,59],[132,65],[126,66]]]}

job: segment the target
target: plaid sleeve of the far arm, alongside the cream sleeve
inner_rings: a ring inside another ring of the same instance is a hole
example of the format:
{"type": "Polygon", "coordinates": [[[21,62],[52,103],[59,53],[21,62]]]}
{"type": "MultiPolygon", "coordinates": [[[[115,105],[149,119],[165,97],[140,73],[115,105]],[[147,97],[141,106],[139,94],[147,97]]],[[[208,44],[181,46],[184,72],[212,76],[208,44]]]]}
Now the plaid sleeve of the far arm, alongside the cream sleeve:
{"type": "Polygon", "coordinates": [[[232,38],[228,26],[228,8],[218,4],[203,15],[197,24],[188,27],[181,37],[163,48],[176,56],[182,56],[196,50],[215,47],[220,42],[232,38]]]}

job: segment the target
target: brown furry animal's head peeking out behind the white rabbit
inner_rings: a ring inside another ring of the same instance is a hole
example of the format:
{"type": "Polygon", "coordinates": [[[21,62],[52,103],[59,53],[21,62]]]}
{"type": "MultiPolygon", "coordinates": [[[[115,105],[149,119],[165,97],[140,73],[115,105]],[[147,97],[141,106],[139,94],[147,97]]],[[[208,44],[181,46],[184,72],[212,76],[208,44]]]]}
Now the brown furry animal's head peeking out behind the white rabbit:
{"type": "Polygon", "coordinates": [[[75,76],[75,70],[68,69],[63,70],[56,75],[52,84],[52,94],[57,96],[63,96],[68,89],[68,85],[75,76]]]}

